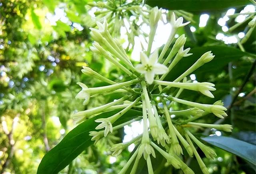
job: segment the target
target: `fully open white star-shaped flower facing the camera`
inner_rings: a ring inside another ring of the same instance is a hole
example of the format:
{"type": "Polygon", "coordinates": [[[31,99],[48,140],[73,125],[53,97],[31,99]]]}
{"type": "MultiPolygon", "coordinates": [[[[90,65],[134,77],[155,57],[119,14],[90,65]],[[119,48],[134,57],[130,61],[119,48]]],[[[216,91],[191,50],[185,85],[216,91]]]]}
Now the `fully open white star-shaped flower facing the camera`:
{"type": "Polygon", "coordinates": [[[153,83],[155,74],[164,74],[168,71],[168,68],[165,65],[157,63],[157,60],[158,50],[154,51],[149,58],[145,53],[141,52],[140,61],[142,64],[135,66],[136,71],[145,75],[145,79],[149,84],[153,83]]]}

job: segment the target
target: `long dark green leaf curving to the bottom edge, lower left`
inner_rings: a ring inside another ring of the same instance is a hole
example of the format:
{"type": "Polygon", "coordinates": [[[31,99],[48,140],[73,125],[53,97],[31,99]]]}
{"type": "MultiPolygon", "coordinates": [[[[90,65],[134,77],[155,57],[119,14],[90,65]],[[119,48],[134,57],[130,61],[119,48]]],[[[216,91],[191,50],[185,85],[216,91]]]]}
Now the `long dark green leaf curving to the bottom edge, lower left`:
{"type": "MultiPolygon", "coordinates": [[[[110,117],[118,113],[118,111],[120,110],[97,115],[71,130],[59,144],[44,155],[38,166],[37,174],[57,174],[60,170],[64,169],[72,160],[82,153],[85,148],[93,144],[89,132],[95,130],[95,127],[99,124],[96,123],[95,120],[110,117]]],[[[118,119],[114,125],[119,125],[139,115],[142,115],[140,111],[130,109],[121,119],[118,119]]]]}

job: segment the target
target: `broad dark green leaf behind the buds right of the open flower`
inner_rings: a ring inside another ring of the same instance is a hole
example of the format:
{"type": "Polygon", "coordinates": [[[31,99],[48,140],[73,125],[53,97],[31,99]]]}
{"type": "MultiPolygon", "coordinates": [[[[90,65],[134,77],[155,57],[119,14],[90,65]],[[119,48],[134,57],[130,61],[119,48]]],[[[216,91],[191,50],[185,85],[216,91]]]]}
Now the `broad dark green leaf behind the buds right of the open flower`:
{"type": "Polygon", "coordinates": [[[179,77],[189,67],[191,67],[191,65],[193,65],[201,57],[201,55],[203,55],[207,51],[212,51],[213,55],[215,55],[214,59],[212,59],[212,61],[208,63],[205,63],[203,66],[194,71],[193,74],[202,76],[204,76],[205,73],[216,74],[216,72],[218,73],[222,71],[223,68],[228,65],[230,61],[236,61],[243,56],[255,57],[255,55],[225,45],[194,47],[189,52],[193,53],[193,55],[183,57],[166,76],[165,80],[173,81],[174,79],[179,77]]]}

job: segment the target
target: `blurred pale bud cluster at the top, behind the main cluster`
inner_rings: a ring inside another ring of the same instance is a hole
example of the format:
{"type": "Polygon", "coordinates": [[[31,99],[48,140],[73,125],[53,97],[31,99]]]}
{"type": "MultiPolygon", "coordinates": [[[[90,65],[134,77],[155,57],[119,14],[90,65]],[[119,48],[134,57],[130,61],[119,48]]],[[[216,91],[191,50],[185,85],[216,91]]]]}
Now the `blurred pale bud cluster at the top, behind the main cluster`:
{"type": "MultiPolygon", "coordinates": [[[[135,36],[148,36],[148,33],[141,30],[140,26],[150,24],[150,32],[156,32],[158,21],[162,19],[161,9],[159,10],[155,7],[151,10],[151,7],[147,4],[144,4],[142,8],[143,1],[134,0],[128,2],[126,0],[120,0],[120,3],[115,3],[114,1],[88,2],[90,7],[96,8],[94,12],[95,18],[90,20],[91,22],[88,23],[88,26],[95,28],[97,25],[96,21],[103,22],[104,18],[106,18],[109,24],[108,30],[112,36],[119,36],[121,27],[126,30],[129,42],[127,49],[132,49],[134,47],[135,36]],[[131,18],[130,14],[132,14],[133,18],[131,18]]],[[[193,14],[189,12],[183,10],[174,10],[173,12],[176,16],[183,16],[187,21],[194,22],[193,14]]],[[[171,18],[171,16],[167,16],[167,18],[171,18]]],[[[149,40],[152,39],[150,36],[149,40]]]]}

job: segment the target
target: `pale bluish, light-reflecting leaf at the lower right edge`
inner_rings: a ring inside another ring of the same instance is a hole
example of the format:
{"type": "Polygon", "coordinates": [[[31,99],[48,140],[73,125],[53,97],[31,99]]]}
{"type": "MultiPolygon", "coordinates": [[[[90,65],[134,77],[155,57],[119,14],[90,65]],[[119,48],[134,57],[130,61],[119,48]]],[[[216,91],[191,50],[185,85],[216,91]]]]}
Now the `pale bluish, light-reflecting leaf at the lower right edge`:
{"type": "Polygon", "coordinates": [[[235,138],[227,137],[227,136],[208,136],[202,138],[202,140],[222,148],[228,152],[236,154],[241,158],[251,162],[252,164],[256,164],[256,146],[253,144],[249,144],[248,142],[244,142],[235,138]]]}

